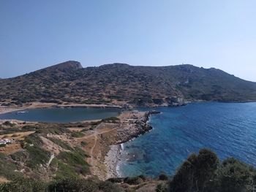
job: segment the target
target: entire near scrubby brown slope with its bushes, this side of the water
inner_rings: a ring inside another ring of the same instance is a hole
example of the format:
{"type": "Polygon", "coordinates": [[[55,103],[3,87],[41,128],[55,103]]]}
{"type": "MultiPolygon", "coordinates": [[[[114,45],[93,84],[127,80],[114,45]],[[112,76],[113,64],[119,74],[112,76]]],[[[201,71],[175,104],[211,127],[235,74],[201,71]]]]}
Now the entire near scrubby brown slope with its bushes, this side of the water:
{"type": "Polygon", "coordinates": [[[191,153],[172,177],[99,177],[108,173],[108,147],[150,130],[152,112],[79,123],[0,121],[0,191],[253,191],[254,167],[235,158],[220,160],[208,149],[191,153]]]}

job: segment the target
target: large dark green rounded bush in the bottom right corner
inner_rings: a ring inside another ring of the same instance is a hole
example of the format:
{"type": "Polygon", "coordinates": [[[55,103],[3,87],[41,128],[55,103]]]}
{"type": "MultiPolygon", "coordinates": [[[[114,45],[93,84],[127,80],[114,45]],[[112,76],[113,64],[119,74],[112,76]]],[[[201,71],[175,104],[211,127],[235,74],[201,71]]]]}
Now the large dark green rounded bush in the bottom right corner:
{"type": "Polygon", "coordinates": [[[252,191],[256,170],[235,158],[222,164],[211,150],[189,155],[170,181],[171,192],[252,191]]]}

